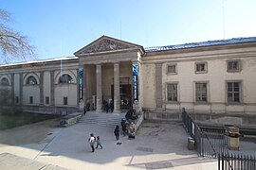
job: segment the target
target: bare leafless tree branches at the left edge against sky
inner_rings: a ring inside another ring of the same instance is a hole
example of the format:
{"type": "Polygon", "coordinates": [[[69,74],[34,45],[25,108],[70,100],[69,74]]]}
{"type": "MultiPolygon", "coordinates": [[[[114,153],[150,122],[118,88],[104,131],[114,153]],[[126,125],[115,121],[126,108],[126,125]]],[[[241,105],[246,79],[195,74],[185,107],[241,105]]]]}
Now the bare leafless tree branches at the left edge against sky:
{"type": "Polygon", "coordinates": [[[26,36],[8,26],[10,21],[9,12],[0,8],[0,60],[8,62],[9,59],[26,59],[34,56],[34,47],[28,43],[26,36]]]}

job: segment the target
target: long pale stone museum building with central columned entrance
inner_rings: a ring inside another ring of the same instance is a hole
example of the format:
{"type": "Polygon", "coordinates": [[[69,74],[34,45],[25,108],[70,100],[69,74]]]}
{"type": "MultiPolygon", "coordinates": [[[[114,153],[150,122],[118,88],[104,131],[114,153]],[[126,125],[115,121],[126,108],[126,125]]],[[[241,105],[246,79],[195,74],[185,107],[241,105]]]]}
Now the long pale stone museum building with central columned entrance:
{"type": "Polygon", "coordinates": [[[256,123],[256,37],[144,48],[102,36],[74,57],[0,65],[1,109],[134,108],[147,119],[256,123]]]}

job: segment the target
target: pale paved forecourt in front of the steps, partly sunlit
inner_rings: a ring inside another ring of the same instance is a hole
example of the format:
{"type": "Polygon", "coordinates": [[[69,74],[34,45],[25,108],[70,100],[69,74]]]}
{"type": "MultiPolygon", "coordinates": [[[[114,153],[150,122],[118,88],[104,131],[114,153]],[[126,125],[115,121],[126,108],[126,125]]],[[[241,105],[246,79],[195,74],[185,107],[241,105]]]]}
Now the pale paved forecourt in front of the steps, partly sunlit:
{"type": "Polygon", "coordinates": [[[144,123],[135,140],[119,141],[111,127],[55,123],[1,131],[0,169],[217,169],[216,160],[187,149],[187,134],[177,122],[144,123]],[[94,153],[87,142],[91,132],[101,136],[103,146],[94,153]]]}

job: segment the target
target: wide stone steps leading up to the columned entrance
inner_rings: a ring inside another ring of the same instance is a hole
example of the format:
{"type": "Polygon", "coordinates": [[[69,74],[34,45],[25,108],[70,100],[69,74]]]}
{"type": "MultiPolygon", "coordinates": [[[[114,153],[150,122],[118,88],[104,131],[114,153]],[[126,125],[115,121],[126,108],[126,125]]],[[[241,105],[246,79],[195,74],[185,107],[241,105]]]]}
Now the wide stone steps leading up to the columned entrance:
{"type": "Polygon", "coordinates": [[[125,113],[105,113],[97,111],[87,111],[77,122],[77,125],[95,125],[101,127],[120,127],[121,119],[125,119],[125,113]]]}

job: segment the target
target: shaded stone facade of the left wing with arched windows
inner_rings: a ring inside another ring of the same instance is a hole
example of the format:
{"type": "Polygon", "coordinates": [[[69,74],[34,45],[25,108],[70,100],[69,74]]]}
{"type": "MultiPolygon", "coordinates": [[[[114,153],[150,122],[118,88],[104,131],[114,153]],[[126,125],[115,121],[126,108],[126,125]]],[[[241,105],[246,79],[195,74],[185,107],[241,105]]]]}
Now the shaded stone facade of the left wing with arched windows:
{"type": "Polygon", "coordinates": [[[4,106],[57,114],[77,110],[77,69],[77,58],[2,66],[0,79],[8,77],[9,85],[1,85],[1,91],[9,88],[11,96],[4,106]],[[60,83],[61,74],[71,81],[60,83]]]}

